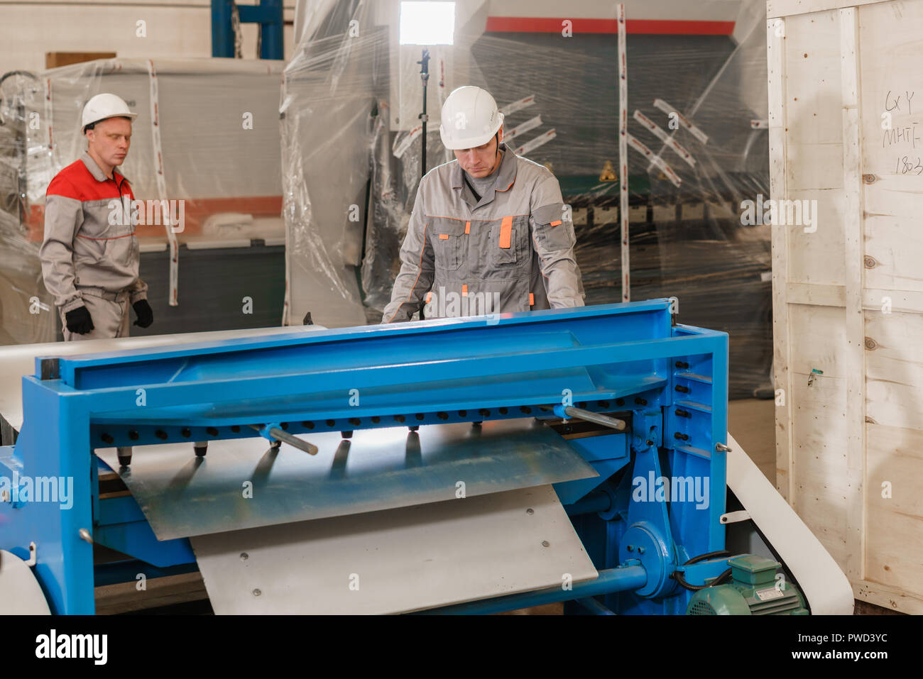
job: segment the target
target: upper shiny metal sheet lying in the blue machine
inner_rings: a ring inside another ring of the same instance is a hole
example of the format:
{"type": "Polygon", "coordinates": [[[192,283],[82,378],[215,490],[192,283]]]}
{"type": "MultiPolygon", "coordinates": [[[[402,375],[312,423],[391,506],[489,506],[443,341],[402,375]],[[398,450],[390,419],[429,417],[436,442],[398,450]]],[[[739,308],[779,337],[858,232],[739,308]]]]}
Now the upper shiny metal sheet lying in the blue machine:
{"type": "Polygon", "coordinates": [[[596,471],[533,418],[301,435],[309,456],[262,438],[137,447],[120,470],[114,448],[96,454],[122,477],[159,540],[423,505],[586,479],[596,471]]]}

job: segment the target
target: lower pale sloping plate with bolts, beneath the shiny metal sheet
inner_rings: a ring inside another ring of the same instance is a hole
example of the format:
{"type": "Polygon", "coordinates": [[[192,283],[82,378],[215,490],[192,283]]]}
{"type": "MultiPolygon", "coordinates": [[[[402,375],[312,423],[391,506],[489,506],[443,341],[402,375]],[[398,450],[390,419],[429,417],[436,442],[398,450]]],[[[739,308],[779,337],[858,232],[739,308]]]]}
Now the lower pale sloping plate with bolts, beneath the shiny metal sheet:
{"type": "Polygon", "coordinates": [[[215,613],[407,613],[597,577],[551,486],[192,538],[215,613]]]}

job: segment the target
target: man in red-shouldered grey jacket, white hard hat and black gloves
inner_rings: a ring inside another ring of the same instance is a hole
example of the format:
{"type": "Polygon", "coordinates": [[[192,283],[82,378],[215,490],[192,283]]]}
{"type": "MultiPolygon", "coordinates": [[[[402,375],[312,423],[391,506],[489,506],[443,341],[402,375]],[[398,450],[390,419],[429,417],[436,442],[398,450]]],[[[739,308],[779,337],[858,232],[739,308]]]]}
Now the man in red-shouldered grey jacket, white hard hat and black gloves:
{"type": "MultiPolygon", "coordinates": [[[[83,107],[87,150],[54,176],[45,194],[42,277],[61,315],[65,341],[128,336],[128,304],[147,328],[153,322],[148,285],[138,278],[138,238],[131,223],[128,180],[115,172],[131,144],[131,113],[114,94],[83,107]]],[[[131,448],[118,448],[123,464],[131,448]]]]}

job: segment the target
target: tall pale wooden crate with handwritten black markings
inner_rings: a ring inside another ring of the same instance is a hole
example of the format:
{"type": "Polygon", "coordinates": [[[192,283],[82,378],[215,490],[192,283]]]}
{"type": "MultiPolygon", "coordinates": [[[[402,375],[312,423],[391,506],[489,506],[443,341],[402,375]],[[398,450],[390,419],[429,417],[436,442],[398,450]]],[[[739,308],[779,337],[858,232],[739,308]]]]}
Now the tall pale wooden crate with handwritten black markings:
{"type": "Polygon", "coordinates": [[[819,218],[773,226],[776,484],[856,598],[905,613],[923,613],[921,34],[923,0],[767,3],[772,197],[819,218]]]}

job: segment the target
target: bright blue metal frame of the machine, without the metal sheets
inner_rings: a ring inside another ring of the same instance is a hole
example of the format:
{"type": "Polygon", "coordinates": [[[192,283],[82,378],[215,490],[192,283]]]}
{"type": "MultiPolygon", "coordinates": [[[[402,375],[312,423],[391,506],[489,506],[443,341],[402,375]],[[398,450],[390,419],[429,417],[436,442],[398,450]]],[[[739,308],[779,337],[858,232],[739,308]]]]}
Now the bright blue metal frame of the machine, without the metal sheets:
{"type": "Polygon", "coordinates": [[[251,437],[254,423],[303,434],[557,421],[543,407],[561,404],[629,422],[569,438],[599,476],[556,484],[599,578],[440,612],[567,601],[581,612],[684,613],[691,592],[674,573],[703,584],[727,567],[725,555],[684,566],[725,547],[727,335],[674,325],[668,300],[38,358],[22,391],[24,423],[16,446],[0,447],[0,474],[69,477],[74,501],[6,496],[0,547],[28,558],[37,543],[34,573],[53,613],[93,613],[94,585],[138,573],[135,562],[94,568],[81,530],[158,573],[196,569],[188,540],[157,541],[133,497],[100,497],[106,468],[93,448],[251,437]]]}

